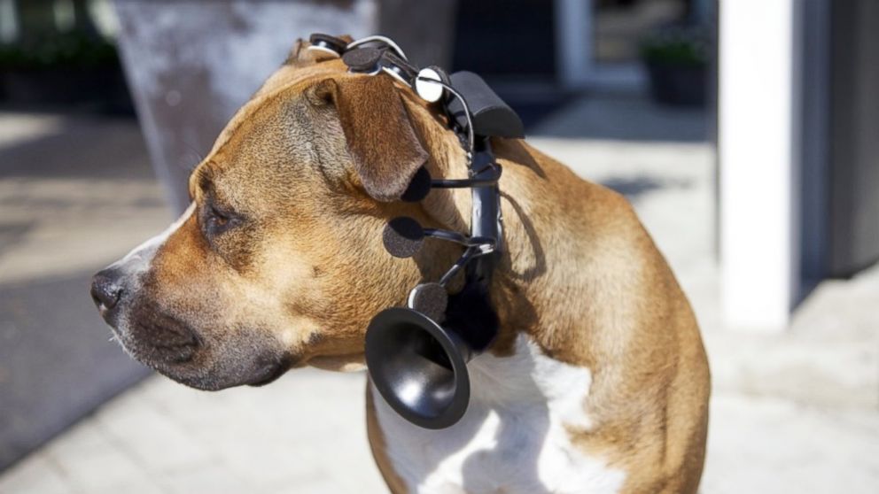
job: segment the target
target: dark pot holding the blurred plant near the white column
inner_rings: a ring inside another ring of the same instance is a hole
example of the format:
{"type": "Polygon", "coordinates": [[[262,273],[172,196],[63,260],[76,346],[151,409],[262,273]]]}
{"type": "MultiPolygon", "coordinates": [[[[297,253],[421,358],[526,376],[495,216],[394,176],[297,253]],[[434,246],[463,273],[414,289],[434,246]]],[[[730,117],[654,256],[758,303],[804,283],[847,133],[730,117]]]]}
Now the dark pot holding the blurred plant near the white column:
{"type": "Polygon", "coordinates": [[[650,93],[663,104],[704,106],[707,99],[708,67],[648,62],[650,93]]]}

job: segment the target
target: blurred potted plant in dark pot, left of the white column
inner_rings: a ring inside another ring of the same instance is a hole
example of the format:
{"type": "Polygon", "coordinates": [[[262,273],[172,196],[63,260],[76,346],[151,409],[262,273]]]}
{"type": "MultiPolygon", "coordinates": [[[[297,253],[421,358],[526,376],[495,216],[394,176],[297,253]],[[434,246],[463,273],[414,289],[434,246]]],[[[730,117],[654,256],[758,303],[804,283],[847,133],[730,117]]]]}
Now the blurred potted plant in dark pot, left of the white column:
{"type": "Polygon", "coordinates": [[[709,33],[704,27],[669,26],[643,38],[641,56],[656,101],[688,106],[705,104],[712,58],[709,33]]]}

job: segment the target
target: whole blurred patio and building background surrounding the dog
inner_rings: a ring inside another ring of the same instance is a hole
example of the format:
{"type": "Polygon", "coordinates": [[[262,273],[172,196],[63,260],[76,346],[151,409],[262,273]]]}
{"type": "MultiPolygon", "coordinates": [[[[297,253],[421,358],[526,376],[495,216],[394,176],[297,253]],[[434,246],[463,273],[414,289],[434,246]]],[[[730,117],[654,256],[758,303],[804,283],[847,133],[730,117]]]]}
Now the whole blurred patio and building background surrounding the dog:
{"type": "Polygon", "coordinates": [[[89,277],[314,32],[468,69],[625,194],[712,364],[701,491],[879,491],[879,3],[0,0],[0,492],[383,492],[364,374],[206,393],[89,277]]]}

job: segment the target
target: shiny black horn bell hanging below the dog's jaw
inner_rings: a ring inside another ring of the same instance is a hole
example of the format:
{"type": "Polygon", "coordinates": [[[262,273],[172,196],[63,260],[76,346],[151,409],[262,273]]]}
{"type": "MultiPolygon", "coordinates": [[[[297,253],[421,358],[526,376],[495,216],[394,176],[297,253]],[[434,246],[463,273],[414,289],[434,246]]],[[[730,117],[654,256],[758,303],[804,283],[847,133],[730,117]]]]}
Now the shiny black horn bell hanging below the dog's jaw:
{"type": "Polygon", "coordinates": [[[366,330],[369,377],[393,410],[423,428],[447,428],[470,402],[471,349],[415,310],[377,313],[366,330]]]}

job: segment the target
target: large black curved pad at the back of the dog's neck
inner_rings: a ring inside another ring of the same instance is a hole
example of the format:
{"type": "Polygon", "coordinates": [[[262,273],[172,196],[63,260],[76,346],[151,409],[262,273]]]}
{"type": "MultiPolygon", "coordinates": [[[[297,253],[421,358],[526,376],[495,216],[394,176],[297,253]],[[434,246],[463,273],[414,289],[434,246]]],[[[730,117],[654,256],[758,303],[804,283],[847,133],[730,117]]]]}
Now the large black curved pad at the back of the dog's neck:
{"type": "MultiPolygon", "coordinates": [[[[476,135],[497,135],[520,139],[525,137],[525,126],[512,108],[503,102],[477,74],[467,71],[453,73],[452,87],[461,93],[470,112],[473,114],[473,133],[476,135]]],[[[449,112],[455,116],[460,127],[466,127],[463,105],[457,98],[448,104],[449,112]]]]}

